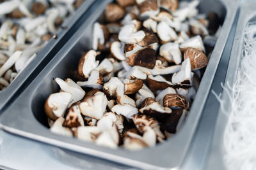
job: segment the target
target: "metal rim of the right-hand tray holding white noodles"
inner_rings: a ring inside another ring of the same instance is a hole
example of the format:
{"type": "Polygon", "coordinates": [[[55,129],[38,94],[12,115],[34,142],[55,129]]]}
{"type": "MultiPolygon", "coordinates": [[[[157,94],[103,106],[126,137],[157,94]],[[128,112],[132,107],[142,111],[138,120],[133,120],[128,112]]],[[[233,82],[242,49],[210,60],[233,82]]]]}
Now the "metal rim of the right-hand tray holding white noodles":
{"type": "MultiPolygon", "coordinates": [[[[231,87],[237,78],[237,71],[241,64],[241,57],[243,53],[244,46],[244,34],[246,24],[248,22],[256,21],[256,11],[255,1],[243,1],[240,7],[239,18],[236,27],[236,34],[234,37],[234,42],[232,46],[232,52],[230,55],[230,60],[228,63],[228,69],[225,79],[225,87],[229,84],[231,87]]],[[[230,100],[228,99],[228,94],[223,90],[223,95],[221,97],[225,100],[225,110],[230,110],[230,100]]],[[[225,127],[227,125],[228,115],[223,113],[221,109],[218,111],[218,118],[216,120],[216,126],[214,129],[214,136],[211,143],[211,150],[209,152],[208,161],[205,164],[205,169],[226,169],[223,155],[225,149],[223,146],[223,135],[225,132],[225,127]]]]}

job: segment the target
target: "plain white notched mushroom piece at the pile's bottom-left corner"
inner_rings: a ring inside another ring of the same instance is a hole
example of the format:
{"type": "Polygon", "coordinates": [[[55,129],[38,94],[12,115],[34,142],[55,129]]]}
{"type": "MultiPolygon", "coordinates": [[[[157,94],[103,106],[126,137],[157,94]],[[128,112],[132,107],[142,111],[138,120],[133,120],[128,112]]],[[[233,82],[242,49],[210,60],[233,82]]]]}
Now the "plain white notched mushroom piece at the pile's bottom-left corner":
{"type": "Polygon", "coordinates": [[[67,127],[63,127],[62,124],[64,123],[65,119],[63,117],[58,118],[54,124],[52,124],[52,127],[50,128],[51,132],[54,132],[56,134],[61,134],[64,136],[73,136],[72,131],[68,129],[67,127]]]}

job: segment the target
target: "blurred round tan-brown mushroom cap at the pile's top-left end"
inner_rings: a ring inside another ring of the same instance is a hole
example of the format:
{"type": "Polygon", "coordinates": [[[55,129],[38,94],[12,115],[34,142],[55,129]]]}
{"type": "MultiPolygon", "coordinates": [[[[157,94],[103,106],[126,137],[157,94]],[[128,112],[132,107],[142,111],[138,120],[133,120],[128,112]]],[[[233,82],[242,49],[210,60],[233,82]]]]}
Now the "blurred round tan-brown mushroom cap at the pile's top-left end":
{"type": "Polygon", "coordinates": [[[116,22],[117,20],[123,18],[125,13],[125,10],[118,4],[108,4],[105,10],[106,20],[109,22],[116,22]]]}

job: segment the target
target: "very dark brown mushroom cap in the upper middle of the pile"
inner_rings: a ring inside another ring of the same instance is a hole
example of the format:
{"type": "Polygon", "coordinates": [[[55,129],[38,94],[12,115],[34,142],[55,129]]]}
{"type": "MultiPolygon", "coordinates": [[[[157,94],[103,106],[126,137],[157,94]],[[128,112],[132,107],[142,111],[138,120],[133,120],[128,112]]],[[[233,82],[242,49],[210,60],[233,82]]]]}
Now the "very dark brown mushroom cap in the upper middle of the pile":
{"type": "Polygon", "coordinates": [[[140,50],[134,60],[136,66],[147,67],[153,69],[156,65],[156,51],[151,48],[144,48],[140,50]]]}

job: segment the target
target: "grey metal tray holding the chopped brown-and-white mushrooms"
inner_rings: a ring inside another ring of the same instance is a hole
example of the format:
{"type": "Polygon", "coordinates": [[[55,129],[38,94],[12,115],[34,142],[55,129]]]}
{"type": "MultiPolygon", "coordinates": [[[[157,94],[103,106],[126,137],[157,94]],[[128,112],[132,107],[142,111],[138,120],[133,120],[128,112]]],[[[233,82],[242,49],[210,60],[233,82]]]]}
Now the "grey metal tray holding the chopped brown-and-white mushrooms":
{"type": "Polygon", "coordinates": [[[188,117],[177,134],[164,143],[140,151],[129,151],[122,148],[113,150],[76,138],[67,138],[53,134],[45,127],[47,126],[47,117],[44,113],[45,100],[52,92],[58,90],[53,79],[56,77],[72,78],[72,70],[76,69],[79,58],[83,52],[92,48],[92,25],[100,17],[100,14],[106,8],[106,4],[109,2],[104,1],[104,5],[93,4],[91,6],[88,11],[95,12],[88,16],[87,20],[84,21],[79,30],[69,39],[60,52],[38,74],[28,88],[20,94],[12,106],[1,115],[0,119],[3,129],[37,141],[129,166],[143,169],[177,169],[181,166],[191,144],[191,139],[204,108],[204,103],[227,41],[228,33],[232,27],[239,1],[205,0],[200,2],[200,13],[208,13],[210,11],[218,13],[223,20],[223,25],[204,77],[200,83],[195,101],[188,117]]]}

